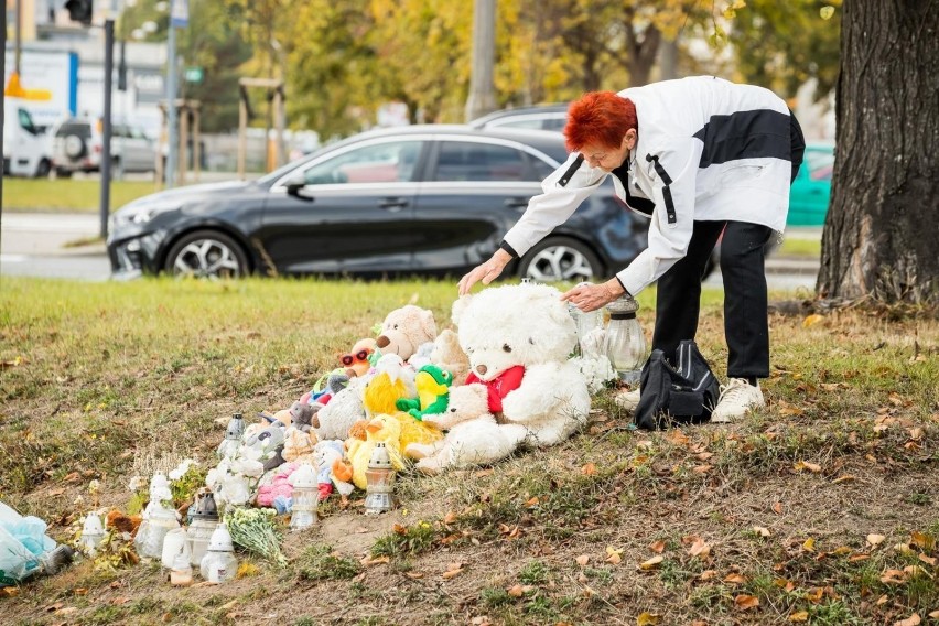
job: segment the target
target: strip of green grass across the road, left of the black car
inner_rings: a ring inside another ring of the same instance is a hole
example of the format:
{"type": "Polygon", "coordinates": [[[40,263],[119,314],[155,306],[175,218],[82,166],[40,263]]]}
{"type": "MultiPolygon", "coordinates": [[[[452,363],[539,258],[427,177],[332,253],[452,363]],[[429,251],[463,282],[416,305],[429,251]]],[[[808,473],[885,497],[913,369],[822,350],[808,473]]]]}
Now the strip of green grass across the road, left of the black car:
{"type": "MultiPolygon", "coordinates": [[[[111,211],[160,191],[154,181],[112,181],[111,211]]],[[[98,211],[101,182],[94,179],[3,179],[3,211],[98,211]]]]}

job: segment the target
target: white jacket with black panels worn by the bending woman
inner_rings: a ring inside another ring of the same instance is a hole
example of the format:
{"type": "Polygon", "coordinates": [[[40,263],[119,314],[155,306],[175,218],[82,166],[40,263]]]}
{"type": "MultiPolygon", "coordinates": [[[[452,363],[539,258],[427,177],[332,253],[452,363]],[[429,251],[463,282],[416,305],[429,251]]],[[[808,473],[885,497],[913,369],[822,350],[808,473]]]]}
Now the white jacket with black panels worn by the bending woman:
{"type": "MultiPolygon", "coordinates": [[[[791,176],[789,109],[768,89],[713,76],[618,94],[636,106],[638,141],[613,172],[616,194],[651,217],[649,246],[616,274],[632,294],[684,257],[694,220],[762,224],[781,231],[791,176]]],[[[542,183],[503,247],[524,255],[606,179],[574,152],[542,183]]]]}

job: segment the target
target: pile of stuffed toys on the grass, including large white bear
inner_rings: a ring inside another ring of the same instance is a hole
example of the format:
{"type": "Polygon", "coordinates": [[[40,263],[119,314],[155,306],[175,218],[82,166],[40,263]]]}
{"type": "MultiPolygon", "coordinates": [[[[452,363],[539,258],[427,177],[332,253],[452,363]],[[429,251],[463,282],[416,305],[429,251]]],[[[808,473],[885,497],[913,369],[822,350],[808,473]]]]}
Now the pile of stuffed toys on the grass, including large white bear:
{"type": "Polygon", "coordinates": [[[564,441],[591,397],[569,359],[576,331],[560,295],[539,284],[486,289],[457,300],[455,328],[441,333],[428,310],[391,311],[377,337],[356,342],[290,408],[260,413],[262,423],[222,446],[209,488],[222,503],[245,504],[250,492],[289,511],[290,476],[304,464],[321,499],[365,489],[379,442],[397,470],[438,473],[564,441]]]}

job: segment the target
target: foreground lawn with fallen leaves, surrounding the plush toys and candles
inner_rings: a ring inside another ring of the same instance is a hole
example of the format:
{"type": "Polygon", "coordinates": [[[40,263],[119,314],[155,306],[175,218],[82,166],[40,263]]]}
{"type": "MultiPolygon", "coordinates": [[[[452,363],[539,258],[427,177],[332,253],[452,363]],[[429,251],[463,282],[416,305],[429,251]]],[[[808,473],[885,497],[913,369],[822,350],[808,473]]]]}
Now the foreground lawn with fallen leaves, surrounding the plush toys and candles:
{"type": "MultiPolygon", "coordinates": [[[[288,407],[388,311],[414,302],[444,327],[454,294],[447,281],[4,277],[0,500],[64,540],[93,508],[128,510],[133,474],[184,456],[211,467],[230,413],[288,407]]],[[[641,294],[647,333],[652,301],[641,294]]],[[[721,304],[705,293],[697,337],[719,374],[721,304]]],[[[935,624],[939,323],[839,311],[770,327],[767,407],[742,423],[636,432],[604,392],[561,445],[402,473],[393,514],[334,496],[285,540],[285,570],[177,590],[155,565],[85,561],[0,591],[0,623],[935,624]],[[74,611],[47,611],[60,603],[74,611]]]]}

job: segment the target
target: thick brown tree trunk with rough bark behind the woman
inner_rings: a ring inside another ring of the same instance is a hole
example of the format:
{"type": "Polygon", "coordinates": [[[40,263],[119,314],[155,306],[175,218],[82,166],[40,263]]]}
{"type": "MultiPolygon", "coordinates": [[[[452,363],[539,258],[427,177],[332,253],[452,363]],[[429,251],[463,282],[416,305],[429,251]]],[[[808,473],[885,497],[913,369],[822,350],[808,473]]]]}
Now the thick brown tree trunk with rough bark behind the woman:
{"type": "Polygon", "coordinates": [[[937,303],[939,2],[845,0],[821,298],[937,303]]]}

